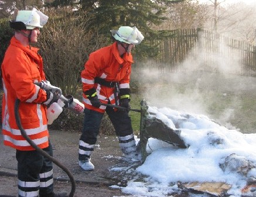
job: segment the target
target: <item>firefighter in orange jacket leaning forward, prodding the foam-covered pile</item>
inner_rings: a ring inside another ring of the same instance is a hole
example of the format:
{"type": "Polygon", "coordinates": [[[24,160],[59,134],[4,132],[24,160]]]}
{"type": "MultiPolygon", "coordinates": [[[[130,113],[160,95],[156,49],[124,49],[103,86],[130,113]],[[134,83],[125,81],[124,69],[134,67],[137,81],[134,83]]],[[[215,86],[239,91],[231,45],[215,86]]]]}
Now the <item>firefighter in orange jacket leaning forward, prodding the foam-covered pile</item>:
{"type": "Polygon", "coordinates": [[[136,27],[121,26],[111,30],[114,43],[90,54],[81,72],[83,84],[84,125],[79,141],[78,163],[83,170],[94,170],[90,155],[94,150],[104,112],[108,114],[125,157],[136,158],[136,143],[128,116],[131,50],[144,39],[136,27]],[[101,103],[120,105],[117,110],[101,103]]]}

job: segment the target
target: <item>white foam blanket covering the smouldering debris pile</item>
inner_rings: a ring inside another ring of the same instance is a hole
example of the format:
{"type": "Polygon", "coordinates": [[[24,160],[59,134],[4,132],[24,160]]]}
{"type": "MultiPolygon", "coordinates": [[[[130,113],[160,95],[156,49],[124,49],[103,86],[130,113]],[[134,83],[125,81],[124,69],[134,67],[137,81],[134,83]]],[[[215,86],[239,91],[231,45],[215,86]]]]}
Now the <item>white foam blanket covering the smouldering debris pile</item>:
{"type": "MultiPolygon", "coordinates": [[[[112,185],[112,188],[120,188],[129,196],[162,197],[178,192],[178,182],[190,184],[186,185],[187,188],[193,188],[195,182],[197,186],[215,182],[224,184],[230,197],[240,197],[247,181],[256,177],[256,169],[252,167],[256,164],[256,134],[227,129],[205,115],[153,106],[149,106],[148,111],[156,113],[155,117],[170,128],[179,129],[188,148],[150,138],[147,151],[151,154],[144,164],[135,168],[146,178],[138,181],[138,177],[134,177],[129,179],[127,186],[112,185]]],[[[111,171],[131,173],[131,169],[125,167],[113,167],[111,171]]],[[[211,193],[219,194],[216,191],[211,193]]],[[[246,194],[256,196],[252,192],[246,194]]],[[[204,195],[190,194],[190,197],[202,196],[209,195],[207,192],[204,195]]]]}

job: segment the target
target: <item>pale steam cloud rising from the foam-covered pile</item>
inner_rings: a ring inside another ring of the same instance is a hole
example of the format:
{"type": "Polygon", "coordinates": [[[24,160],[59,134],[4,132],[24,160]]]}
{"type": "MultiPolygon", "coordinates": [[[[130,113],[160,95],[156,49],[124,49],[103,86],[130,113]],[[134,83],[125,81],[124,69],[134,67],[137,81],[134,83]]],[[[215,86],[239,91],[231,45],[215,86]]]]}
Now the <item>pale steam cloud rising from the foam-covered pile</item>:
{"type": "Polygon", "coordinates": [[[151,106],[207,115],[228,129],[243,130],[238,121],[251,116],[242,109],[243,95],[256,94],[256,80],[240,75],[244,72],[240,56],[236,51],[227,54],[226,48],[220,42],[214,53],[203,48],[194,53],[199,49],[192,49],[175,72],[170,72],[170,65],[148,61],[134,68],[132,77],[143,87],[141,96],[151,106]]]}

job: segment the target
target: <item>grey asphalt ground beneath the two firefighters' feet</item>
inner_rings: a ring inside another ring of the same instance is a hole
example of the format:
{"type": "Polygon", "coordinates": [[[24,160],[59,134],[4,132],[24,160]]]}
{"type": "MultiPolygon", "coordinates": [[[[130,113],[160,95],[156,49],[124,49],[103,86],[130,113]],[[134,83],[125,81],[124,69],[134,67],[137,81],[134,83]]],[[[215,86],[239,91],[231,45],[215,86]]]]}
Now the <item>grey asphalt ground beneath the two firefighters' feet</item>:
{"type": "MultiPolygon", "coordinates": [[[[112,189],[111,185],[122,182],[124,174],[111,171],[115,165],[128,166],[128,161],[122,160],[122,153],[115,136],[99,136],[97,146],[91,161],[94,171],[83,171],[78,165],[78,141],[80,133],[51,130],[50,140],[53,145],[53,156],[67,167],[76,180],[76,197],[112,197],[125,196],[120,189],[112,189]]],[[[15,150],[4,146],[0,133],[0,196],[17,195],[17,162],[15,150]]],[[[70,179],[61,168],[53,167],[54,191],[71,191],[70,179]]],[[[128,178],[127,178],[128,180],[128,178]]],[[[125,185],[125,183],[122,183],[125,185]]],[[[129,195],[127,195],[129,196],[129,195]]]]}

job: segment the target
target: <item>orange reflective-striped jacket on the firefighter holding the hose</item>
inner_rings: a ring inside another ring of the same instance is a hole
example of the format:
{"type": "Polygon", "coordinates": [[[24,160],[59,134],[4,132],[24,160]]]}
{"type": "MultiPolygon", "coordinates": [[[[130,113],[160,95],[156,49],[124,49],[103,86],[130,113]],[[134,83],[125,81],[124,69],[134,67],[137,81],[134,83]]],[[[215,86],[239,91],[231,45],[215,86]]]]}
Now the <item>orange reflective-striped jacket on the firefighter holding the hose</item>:
{"type": "Polygon", "coordinates": [[[2,134],[4,144],[17,150],[34,150],[23,138],[15,120],[15,101],[18,98],[19,115],[23,129],[40,148],[49,146],[47,130],[46,92],[34,82],[45,80],[39,49],[23,46],[14,36],[2,63],[4,96],[2,101],[2,134]]]}

